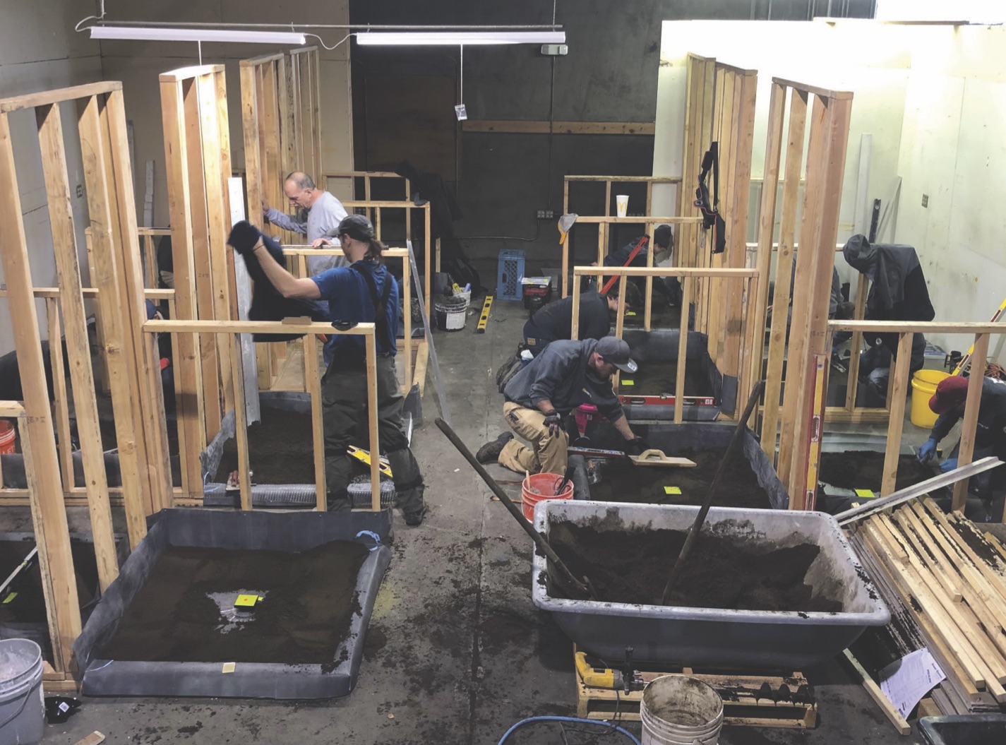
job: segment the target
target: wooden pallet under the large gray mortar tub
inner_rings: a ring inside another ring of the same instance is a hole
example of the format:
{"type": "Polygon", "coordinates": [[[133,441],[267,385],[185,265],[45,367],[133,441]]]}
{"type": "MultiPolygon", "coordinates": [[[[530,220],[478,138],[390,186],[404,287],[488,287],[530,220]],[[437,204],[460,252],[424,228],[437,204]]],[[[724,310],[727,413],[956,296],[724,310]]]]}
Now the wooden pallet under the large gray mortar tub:
{"type": "MultiPolygon", "coordinates": [[[[689,676],[708,684],[723,699],[723,724],[733,727],[788,727],[813,729],[817,725],[817,701],[800,673],[792,676],[749,676],[695,673],[680,667],[672,673],[642,673],[649,683],[662,676],[689,676]],[[785,689],[784,689],[785,687],[785,689]],[[786,691],[789,694],[786,694],[786,691]],[[781,696],[780,693],[784,696],[781,696]],[[780,700],[788,698],[788,700],[780,700]],[[796,699],[796,701],[794,701],[796,699]]],[[[576,716],[583,719],[621,719],[638,722],[642,691],[612,691],[590,688],[576,675],[576,716]]]]}

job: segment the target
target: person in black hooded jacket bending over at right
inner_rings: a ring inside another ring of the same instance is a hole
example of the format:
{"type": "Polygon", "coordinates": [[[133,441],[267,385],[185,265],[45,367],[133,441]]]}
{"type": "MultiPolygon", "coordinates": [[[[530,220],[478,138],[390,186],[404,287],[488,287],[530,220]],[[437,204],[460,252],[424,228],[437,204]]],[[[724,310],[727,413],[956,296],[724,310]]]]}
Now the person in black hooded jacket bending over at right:
{"type": "MultiPolygon", "coordinates": [[[[842,249],[853,269],[870,280],[865,318],[869,321],[932,321],[936,316],[918,256],[910,246],[870,244],[865,236],[853,236],[842,249]]],[[[896,333],[864,335],[869,344],[859,357],[859,379],[886,391],[891,361],[897,358],[896,333]]],[[[854,350],[855,351],[855,350],[854,350]]],[[[926,337],[911,340],[909,376],[925,363],[926,337]]]]}

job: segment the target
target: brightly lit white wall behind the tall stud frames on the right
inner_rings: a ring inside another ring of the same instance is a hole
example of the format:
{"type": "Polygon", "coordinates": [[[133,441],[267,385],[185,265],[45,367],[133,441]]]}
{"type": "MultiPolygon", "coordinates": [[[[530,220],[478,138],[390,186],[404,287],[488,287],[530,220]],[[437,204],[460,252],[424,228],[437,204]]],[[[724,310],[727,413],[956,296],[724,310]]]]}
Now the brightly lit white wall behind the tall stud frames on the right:
{"type": "MultiPolygon", "coordinates": [[[[900,28],[893,33],[899,34],[900,28]]],[[[854,217],[860,139],[872,136],[867,193],[887,200],[896,175],[901,118],[909,55],[896,44],[881,42],[883,29],[869,21],[843,23],[794,21],[665,21],[658,78],[654,173],[680,175],[684,136],[684,99],[689,52],[715,57],[759,73],[751,178],[765,167],[772,79],[782,78],[836,91],[852,91],[854,100],[846,153],[839,241],[856,233],[854,217]]],[[[785,128],[789,126],[787,119],[785,128]]],[[[810,132],[808,130],[807,135],[810,132]]],[[[782,166],[786,163],[784,142],[782,166]]],[[[806,165],[805,165],[806,169],[806,165]]],[[[692,187],[693,188],[693,187],[692,187]]],[[[760,186],[752,188],[751,226],[757,225],[760,186]]],[[[777,212],[777,227],[779,214],[777,212]]],[[[868,225],[868,224],[867,224],[868,225]]],[[[749,236],[752,240],[752,237],[749,236]]],[[[799,240],[799,237],[798,237],[799,240]]],[[[837,263],[843,281],[853,271],[837,263]]],[[[855,286],[855,283],[853,283],[855,286]]]]}

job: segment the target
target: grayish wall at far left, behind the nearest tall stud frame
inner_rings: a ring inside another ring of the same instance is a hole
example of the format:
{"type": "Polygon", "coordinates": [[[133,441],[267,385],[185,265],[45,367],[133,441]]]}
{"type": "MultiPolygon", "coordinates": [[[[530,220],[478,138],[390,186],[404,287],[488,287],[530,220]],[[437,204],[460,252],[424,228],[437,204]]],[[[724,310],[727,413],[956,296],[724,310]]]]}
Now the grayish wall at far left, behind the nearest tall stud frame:
{"type": "MultiPolygon", "coordinates": [[[[94,4],[87,0],[5,3],[0,11],[0,98],[101,80],[102,65],[97,42],[92,42],[87,34],[73,31],[73,25],[93,11],[94,4]]],[[[83,183],[80,144],[72,126],[75,111],[64,106],[61,113],[66,134],[77,251],[81,268],[87,272],[83,243],[87,202],[82,196],[76,196],[75,189],[77,184],[83,183]]],[[[10,115],[10,124],[32,282],[36,287],[52,286],[56,276],[55,259],[34,117],[31,112],[14,112],[10,115]]],[[[3,195],[3,198],[8,196],[3,195]]],[[[0,230],[9,230],[9,227],[0,230]]],[[[0,268],[0,281],[2,274],[0,268]]],[[[47,335],[44,303],[38,302],[36,308],[44,338],[47,335]]],[[[0,354],[13,348],[10,312],[7,301],[0,300],[0,354]]]]}

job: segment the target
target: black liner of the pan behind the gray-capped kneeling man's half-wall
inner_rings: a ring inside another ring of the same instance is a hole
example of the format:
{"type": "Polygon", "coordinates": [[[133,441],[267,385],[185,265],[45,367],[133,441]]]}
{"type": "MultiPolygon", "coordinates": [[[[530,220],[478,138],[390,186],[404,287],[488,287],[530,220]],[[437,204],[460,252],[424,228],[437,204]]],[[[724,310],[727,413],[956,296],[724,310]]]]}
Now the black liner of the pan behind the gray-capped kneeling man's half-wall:
{"type": "MultiPolygon", "coordinates": [[[[627,328],[622,334],[622,338],[629,344],[633,359],[641,364],[676,362],[680,336],[681,332],[676,328],[655,328],[650,331],[627,328]]],[[[698,365],[702,370],[712,390],[713,405],[686,403],[684,418],[692,422],[711,422],[721,410],[733,410],[737,398],[737,379],[722,375],[713,363],[709,356],[708,338],[704,333],[689,331],[685,343],[685,364],[689,369],[694,369],[693,365],[698,365]]],[[[667,393],[673,395],[673,387],[667,393]]],[[[676,404],[646,403],[643,397],[638,397],[638,403],[632,403],[633,400],[637,400],[637,397],[628,399],[630,402],[628,404],[625,403],[627,399],[623,399],[623,406],[630,419],[674,419],[676,404]]]]}

